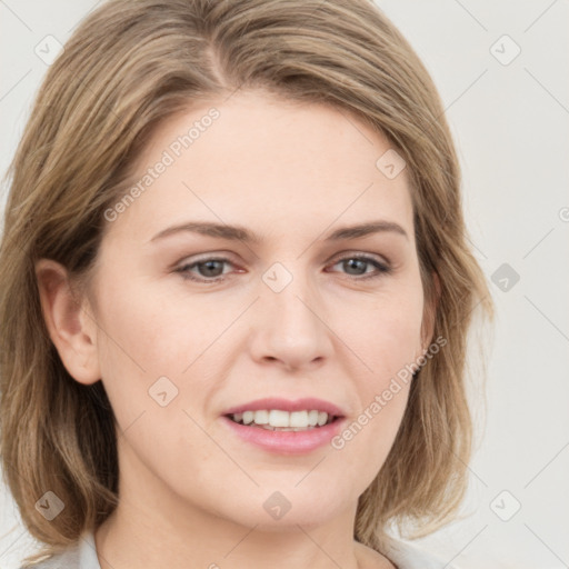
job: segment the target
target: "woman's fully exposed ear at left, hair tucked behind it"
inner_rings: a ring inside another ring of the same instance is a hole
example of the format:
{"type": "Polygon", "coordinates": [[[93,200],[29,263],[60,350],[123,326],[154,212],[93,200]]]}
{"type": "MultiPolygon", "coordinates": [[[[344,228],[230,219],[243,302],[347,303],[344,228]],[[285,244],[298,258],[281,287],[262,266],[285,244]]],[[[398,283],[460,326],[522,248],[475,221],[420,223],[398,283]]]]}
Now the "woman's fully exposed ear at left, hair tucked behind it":
{"type": "Polygon", "coordinates": [[[100,379],[97,327],[84,299],[73,293],[67,269],[50,259],[36,263],[41,310],[49,336],[68,372],[84,385],[100,379]]]}

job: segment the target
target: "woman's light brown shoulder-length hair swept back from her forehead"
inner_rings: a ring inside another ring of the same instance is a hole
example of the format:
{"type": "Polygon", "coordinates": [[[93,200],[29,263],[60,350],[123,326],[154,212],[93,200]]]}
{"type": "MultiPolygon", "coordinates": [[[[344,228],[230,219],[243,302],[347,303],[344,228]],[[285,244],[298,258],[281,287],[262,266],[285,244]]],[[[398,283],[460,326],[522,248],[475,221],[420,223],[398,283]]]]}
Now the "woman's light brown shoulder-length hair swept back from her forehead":
{"type": "Polygon", "coordinates": [[[426,306],[437,303],[433,337],[448,343],[411,383],[391,451],[359,498],[355,538],[381,551],[388,523],[430,531],[463,498],[472,446],[467,332],[476,310],[491,316],[492,306],[468,242],[443,107],[416,52],[369,0],[114,0],[83,20],[49,68],[9,170],[0,450],[42,552],[62,550],[107,519],[119,472],[102,382],[83,386],[63,367],[42,318],[34,263],[53,259],[88,283],[103,212],[124,193],[151,132],[192,103],[237,89],[352,113],[407,163],[426,306]],[[51,521],[34,507],[48,490],[64,503],[51,521]]]}

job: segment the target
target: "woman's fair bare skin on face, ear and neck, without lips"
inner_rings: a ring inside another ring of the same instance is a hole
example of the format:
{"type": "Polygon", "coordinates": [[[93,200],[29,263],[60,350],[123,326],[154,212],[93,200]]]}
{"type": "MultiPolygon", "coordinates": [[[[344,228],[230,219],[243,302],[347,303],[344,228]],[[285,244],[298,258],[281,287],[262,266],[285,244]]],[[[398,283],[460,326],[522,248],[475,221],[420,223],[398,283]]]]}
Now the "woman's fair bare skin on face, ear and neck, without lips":
{"type": "Polygon", "coordinates": [[[174,160],[109,221],[90,298],[73,302],[64,269],[38,262],[66,368],[84,385],[101,379],[117,417],[120,505],[96,532],[101,569],[395,567],[353,540],[358,497],[392,447],[410,382],[371,419],[370,403],[430,340],[406,170],[389,179],[376,167],[390,148],[343,111],[238,92],[153,133],[133,183],[164,151],[174,160]],[[172,142],[213,106],[219,118],[174,156],[172,142]],[[259,241],[153,239],[197,220],[259,241]],[[325,240],[377,220],[392,226],[325,240]],[[389,271],[350,263],[358,254],[389,271]],[[223,280],[211,283],[203,263],[221,257],[209,269],[223,280]],[[276,292],[267,271],[291,280],[276,292]],[[164,377],[162,391],[177,395],[161,406],[149,390],[164,377]],[[366,409],[369,420],[341,449],[270,452],[223,418],[266,397],[315,397],[347,426],[366,409]],[[290,505],[280,519],[263,507],[274,492],[290,505]]]}

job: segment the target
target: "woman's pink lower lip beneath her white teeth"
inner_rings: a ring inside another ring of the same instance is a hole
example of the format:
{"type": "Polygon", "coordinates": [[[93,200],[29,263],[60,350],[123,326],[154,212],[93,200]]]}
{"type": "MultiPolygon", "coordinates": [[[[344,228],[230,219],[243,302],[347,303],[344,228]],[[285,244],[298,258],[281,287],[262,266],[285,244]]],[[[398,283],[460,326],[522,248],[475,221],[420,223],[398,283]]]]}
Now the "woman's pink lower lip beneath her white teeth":
{"type": "Polygon", "coordinates": [[[306,455],[330,442],[339,433],[343,418],[323,427],[306,431],[271,431],[262,427],[248,427],[221,417],[223,422],[242,440],[279,455],[306,455]]]}

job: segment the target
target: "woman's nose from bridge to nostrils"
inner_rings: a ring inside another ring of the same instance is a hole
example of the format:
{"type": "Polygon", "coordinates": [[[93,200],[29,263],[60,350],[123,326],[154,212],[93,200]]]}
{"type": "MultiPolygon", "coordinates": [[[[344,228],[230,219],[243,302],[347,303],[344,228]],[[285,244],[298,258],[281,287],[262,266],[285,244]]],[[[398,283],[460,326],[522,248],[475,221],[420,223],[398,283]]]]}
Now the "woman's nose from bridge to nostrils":
{"type": "Polygon", "coordinates": [[[280,292],[262,283],[250,345],[256,361],[277,362],[289,371],[321,366],[333,349],[321,296],[296,272],[280,292]]]}

